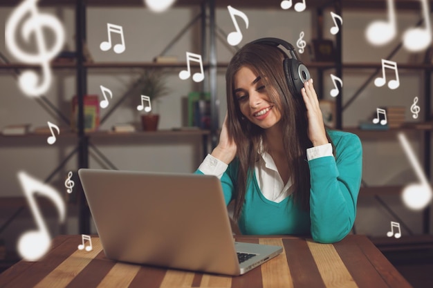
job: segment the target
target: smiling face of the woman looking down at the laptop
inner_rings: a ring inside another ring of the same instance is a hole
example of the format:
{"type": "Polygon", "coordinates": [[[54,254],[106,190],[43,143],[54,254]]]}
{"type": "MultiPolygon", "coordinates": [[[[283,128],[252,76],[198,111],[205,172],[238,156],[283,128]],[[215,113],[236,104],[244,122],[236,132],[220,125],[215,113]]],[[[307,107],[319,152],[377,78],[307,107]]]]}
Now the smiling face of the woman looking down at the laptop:
{"type": "Polygon", "coordinates": [[[281,113],[268,95],[270,87],[266,87],[261,79],[247,66],[241,67],[234,75],[234,100],[244,117],[261,128],[270,128],[281,119],[281,113]]]}

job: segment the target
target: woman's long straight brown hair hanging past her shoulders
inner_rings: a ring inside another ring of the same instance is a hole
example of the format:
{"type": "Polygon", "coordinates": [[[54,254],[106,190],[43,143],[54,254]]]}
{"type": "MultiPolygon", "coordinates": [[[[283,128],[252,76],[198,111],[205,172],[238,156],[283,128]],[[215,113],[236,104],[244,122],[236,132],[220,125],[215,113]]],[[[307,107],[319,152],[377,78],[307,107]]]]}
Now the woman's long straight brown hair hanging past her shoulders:
{"type": "MultiPolygon", "coordinates": [[[[310,171],[306,159],[306,148],[313,146],[308,139],[306,107],[300,95],[291,95],[284,75],[283,60],[288,56],[283,50],[266,44],[246,44],[234,55],[225,73],[228,107],[228,134],[237,145],[239,169],[234,184],[234,219],[241,214],[243,201],[252,182],[255,162],[259,159],[261,141],[265,130],[243,118],[234,91],[234,75],[246,66],[260,76],[269,101],[275,104],[282,118],[282,142],[290,178],[293,181],[295,202],[309,209],[310,171]]],[[[328,136],[328,135],[326,135],[328,136]]],[[[328,139],[330,140],[329,136],[328,139]]],[[[264,143],[266,147],[266,143],[264,143]]]]}

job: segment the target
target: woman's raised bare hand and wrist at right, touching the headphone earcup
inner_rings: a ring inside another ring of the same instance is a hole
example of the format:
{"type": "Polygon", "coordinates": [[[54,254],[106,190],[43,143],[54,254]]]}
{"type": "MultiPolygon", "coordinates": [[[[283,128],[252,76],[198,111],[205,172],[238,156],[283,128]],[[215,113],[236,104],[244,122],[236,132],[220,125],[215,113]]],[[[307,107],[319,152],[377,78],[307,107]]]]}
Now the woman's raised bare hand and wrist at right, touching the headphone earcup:
{"type": "Polygon", "coordinates": [[[317,94],[313,87],[313,79],[304,82],[304,88],[301,89],[301,94],[304,98],[308,118],[308,138],[310,138],[313,146],[329,143],[326,138],[319,99],[317,99],[317,94]]]}

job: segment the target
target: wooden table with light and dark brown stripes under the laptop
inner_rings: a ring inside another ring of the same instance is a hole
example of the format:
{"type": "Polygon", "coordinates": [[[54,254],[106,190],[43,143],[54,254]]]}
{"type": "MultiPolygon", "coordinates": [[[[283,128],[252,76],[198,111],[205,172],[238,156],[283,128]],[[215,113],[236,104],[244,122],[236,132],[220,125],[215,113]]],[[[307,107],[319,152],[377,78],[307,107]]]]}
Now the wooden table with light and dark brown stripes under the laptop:
{"type": "Polygon", "coordinates": [[[232,278],[114,262],[98,237],[92,237],[93,251],[85,251],[77,249],[81,236],[57,236],[39,262],[20,261],[1,273],[0,287],[412,287],[365,236],[335,244],[291,236],[237,240],[282,245],[284,252],[232,278]]]}

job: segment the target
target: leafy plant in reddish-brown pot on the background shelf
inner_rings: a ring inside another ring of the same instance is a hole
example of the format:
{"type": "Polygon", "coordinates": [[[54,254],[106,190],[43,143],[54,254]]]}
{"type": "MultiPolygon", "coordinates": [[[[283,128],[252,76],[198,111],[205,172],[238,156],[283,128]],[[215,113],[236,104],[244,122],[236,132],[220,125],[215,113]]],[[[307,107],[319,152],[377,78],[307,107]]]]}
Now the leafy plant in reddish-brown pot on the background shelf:
{"type": "Polygon", "coordinates": [[[141,93],[141,104],[138,108],[145,113],[141,115],[144,131],[156,131],[158,128],[158,100],[169,93],[165,82],[166,73],[160,69],[146,69],[138,78],[141,93]]]}

